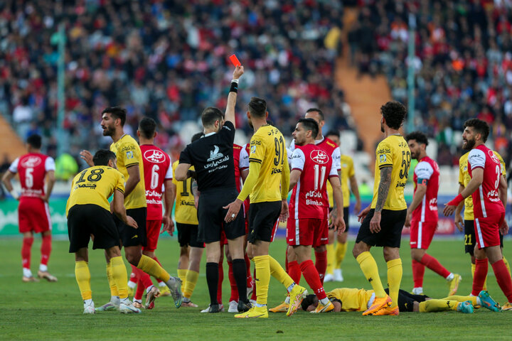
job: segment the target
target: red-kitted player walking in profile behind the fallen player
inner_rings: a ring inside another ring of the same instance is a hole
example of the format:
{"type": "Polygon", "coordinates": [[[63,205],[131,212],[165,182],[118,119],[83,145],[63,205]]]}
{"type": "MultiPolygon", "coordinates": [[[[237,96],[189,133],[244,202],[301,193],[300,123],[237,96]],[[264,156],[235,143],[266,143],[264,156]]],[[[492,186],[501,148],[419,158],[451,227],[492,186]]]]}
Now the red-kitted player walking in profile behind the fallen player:
{"type": "Polygon", "coordinates": [[[412,258],[412,279],[414,288],[412,293],[423,293],[423,275],[425,266],[449,283],[448,296],[455,295],[461,276],[453,274],[442,266],[437,259],[427,254],[437,229],[437,192],[439,190],[439,166],[437,162],[427,156],[428,139],[420,131],[414,131],[405,136],[409,144],[411,157],[418,163],[414,171],[415,190],[412,202],[407,209],[405,226],[410,227],[410,247],[412,258]]]}

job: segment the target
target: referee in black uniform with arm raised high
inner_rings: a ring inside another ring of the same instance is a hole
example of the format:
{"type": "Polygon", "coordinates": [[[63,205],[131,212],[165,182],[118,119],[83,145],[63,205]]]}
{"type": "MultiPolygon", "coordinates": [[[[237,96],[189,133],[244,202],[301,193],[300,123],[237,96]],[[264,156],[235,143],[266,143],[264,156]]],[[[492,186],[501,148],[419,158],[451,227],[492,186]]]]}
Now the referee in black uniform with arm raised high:
{"type": "Polygon", "coordinates": [[[243,74],[242,66],[233,72],[233,80],[228,94],[225,117],[220,109],[208,107],[201,114],[205,135],[186,146],[181,152],[176,168],[176,180],[183,181],[191,176],[188,171],[194,166],[199,196],[198,241],[206,243],[206,281],[210,292],[209,313],[218,313],[217,302],[218,262],[220,260],[220,232],[224,229],[228,238],[233,273],[238,286],[238,311],[250,309],[247,300],[245,281],[244,237],[245,222],[243,212],[232,222],[224,222],[228,210],[223,206],[235,201],[238,191],[235,185],[233,164],[233,141],[235,140],[235,104],[238,92],[238,79],[243,74]]]}

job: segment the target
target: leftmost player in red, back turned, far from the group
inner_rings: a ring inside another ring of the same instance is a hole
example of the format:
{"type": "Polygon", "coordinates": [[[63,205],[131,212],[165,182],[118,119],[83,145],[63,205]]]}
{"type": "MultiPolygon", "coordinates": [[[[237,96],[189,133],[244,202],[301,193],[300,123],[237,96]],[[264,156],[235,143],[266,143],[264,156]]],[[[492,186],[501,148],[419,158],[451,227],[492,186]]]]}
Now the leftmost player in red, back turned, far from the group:
{"type": "Polygon", "coordinates": [[[38,277],[55,282],[57,278],[48,272],[48,259],[51,253],[51,222],[48,200],[55,183],[55,161],[41,154],[41,136],[31,135],[27,139],[28,153],[11,164],[2,179],[18,205],[19,232],[23,234],[21,259],[23,260],[23,282],[38,281],[30,269],[33,234],[41,233],[41,264],[38,277]],[[21,195],[14,192],[11,179],[19,174],[21,195]],[[46,178],[46,191],[45,191],[46,178]]]}

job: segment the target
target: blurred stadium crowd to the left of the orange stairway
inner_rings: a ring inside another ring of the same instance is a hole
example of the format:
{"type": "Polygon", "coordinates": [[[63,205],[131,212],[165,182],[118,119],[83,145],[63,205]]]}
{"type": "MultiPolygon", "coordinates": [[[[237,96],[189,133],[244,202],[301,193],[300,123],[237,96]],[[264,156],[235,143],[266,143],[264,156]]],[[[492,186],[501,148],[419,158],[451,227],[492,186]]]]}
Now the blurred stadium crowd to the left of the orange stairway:
{"type": "Polygon", "coordinates": [[[186,144],[177,134],[183,122],[198,121],[208,105],[225,106],[221,94],[229,87],[231,53],[251,70],[241,85],[240,123],[246,120],[242,107],[258,94],[268,100],[271,119],[285,134],[309,107],[324,109],[329,128],[353,129],[332,77],[341,4],[220,4],[3,1],[0,112],[23,140],[42,134],[55,156],[56,31],[58,23],[65,23],[65,136],[60,142],[76,158],[82,148],[107,146],[98,122],[109,105],[128,109],[129,133],[142,117],[154,118],[161,131],[156,143],[177,158],[186,144]]]}

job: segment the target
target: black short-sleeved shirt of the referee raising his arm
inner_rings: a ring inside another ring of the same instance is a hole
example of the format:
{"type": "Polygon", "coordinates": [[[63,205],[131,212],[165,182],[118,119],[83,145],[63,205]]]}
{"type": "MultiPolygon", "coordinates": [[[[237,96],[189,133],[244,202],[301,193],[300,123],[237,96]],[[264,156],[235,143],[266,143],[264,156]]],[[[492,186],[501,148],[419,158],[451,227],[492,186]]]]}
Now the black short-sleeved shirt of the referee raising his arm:
{"type": "Polygon", "coordinates": [[[233,164],[235,126],[226,121],[218,133],[208,134],[186,146],[181,152],[180,163],[196,168],[198,190],[235,188],[233,164]]]}

